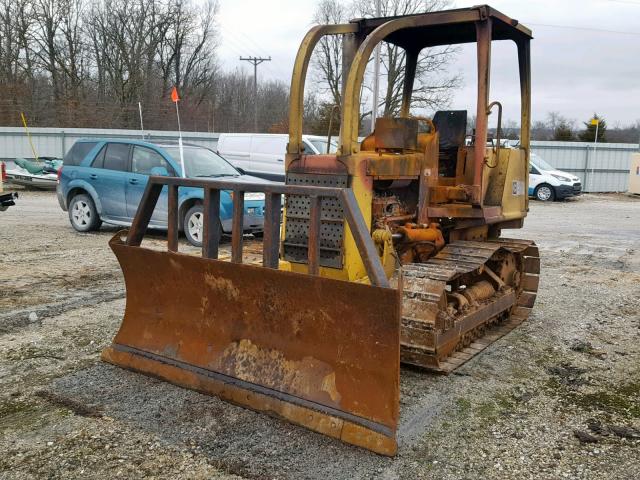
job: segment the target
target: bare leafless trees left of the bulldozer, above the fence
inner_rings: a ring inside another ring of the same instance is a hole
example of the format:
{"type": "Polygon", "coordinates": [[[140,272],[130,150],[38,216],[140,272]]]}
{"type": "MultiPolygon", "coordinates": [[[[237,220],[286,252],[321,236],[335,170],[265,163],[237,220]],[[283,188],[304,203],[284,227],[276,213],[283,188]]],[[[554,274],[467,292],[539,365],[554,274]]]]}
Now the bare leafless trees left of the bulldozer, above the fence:
{"type": "MultiPolygon", "coordinates": [[[[251,128],[252,78],[222,71],[217,0],[0,0],[0,124],[176,129],[251,128]]],[[[262,82],[261,127],[281,120],[288,85],[262,82]]],[[[277,122],[276,122],[277,123],[277,122]]]]}

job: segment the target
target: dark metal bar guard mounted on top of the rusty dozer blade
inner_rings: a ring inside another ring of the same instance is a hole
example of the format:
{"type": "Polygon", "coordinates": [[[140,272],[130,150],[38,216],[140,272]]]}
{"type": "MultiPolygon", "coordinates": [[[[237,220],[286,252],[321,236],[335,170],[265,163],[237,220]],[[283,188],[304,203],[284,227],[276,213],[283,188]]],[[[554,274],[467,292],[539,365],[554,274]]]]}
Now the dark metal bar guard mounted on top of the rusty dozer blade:
{"type": "Polygon", "coordinates": [[[149,227],[153,210],[158,203],[162,188],[168,186],[167,200],[167,249],[178,251],[178,188],[194,187],[204,189],[204,234],[202,242],[203,258],[217,259],[220,245],[220,231],[211,228],[220,222],[220,190],[233,191],[233,220],[231,230],[231,261],[242,263],[242,230],[244,224],[244,194],[259,192],[265,194],[264,236],[262,243],[262,264],[277,269],[280,251],[280,221],[282,195],[306,195],[311,200],[309,215],[309,237],[307,242],[307,264],[309,274],[318,275],[320,270],[320,224],[322,198],[335,198],[342,205],[345,219],[360,252],[362,263],[372,285],[390,288],[389,280],[377,249],[364,221],[353,190],[350,188],[284,185],[278,183],[245,183],[228,180],[195,179],[151,176],[138,205],[136,215],[129,229],[126,244],[139,247],[149,227]]]}

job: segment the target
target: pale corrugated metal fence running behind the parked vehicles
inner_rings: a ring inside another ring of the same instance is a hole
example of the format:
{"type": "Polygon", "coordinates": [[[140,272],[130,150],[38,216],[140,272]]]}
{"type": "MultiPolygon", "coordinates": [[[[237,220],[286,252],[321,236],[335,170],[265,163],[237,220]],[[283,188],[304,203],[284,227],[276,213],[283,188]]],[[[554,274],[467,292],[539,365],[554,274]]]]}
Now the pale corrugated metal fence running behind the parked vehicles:
{"type": "MultiPolygon", "coordinates": [[[[142,138],[136,130],[98,130],[88,128],[32,128],[31,137],[38,156],[62,157],[79,138],[142,138]]],[[[183,132],[185,142],[216,149],[219,134],[183,132]]],[[[146,131],[145,140],[177,140],[178,132],[146,131]]],[[[594,153],[592,143],[531,142],[534,153],[559,170],[580,177],[587,192],[624,192],[628,188],[632,153],[638,145],[601,143],[594,153]]],[[[0,159],[33,158],[23,128],[0,127],[0,159]]]]}

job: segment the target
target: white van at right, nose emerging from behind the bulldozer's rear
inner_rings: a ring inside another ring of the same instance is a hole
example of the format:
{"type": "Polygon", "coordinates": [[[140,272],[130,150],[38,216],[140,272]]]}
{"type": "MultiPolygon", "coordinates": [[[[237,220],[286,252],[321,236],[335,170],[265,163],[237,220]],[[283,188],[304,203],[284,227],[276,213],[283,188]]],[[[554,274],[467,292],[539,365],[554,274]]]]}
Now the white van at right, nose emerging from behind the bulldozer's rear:
{"type": "Polygon", "coordinates": [[[562,200],[582,193],[582,184],[575,175],[557,170],[535,153],[529,162],[529,196],[543,202],[562,200]]]}

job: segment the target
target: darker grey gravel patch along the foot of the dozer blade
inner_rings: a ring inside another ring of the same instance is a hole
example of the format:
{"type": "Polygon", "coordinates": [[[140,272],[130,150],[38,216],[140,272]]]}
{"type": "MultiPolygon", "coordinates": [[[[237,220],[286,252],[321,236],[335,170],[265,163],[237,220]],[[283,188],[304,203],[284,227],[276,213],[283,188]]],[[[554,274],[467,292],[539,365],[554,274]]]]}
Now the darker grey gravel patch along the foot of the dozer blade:
{"type": "Polygon", "coordinates": [[[432,386],[443,377],[404,373],[403,390],[409,394],[404,400],[410,405],[403,402],[396,459],[103,363],[56,380],[48,395],[73,399],[77,408],[86,403],[124,428],[191,448],[222,471],[245,478],[393,479],[411,476],[405,471],[412,469],[407,462],[411,444],[451,402],[448,395],[440,392],[438,399],[433,393],[432,386]]]}

